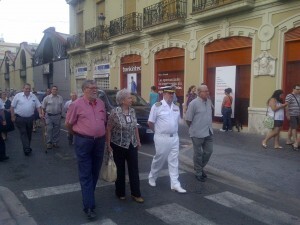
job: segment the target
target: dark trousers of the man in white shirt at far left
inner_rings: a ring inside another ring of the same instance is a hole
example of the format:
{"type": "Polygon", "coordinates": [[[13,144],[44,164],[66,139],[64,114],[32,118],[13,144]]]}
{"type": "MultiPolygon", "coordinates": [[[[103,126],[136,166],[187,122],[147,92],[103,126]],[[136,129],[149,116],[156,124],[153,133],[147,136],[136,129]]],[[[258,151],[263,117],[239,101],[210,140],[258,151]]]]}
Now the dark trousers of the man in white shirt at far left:
{"type": "Polygon", "coordinates": [[[30,149],[32,127],[33,127],[34,117],[16,117],[16,126],[20,132],[20,137],[23,145],[23,150],[26,151],[30,149]]]}

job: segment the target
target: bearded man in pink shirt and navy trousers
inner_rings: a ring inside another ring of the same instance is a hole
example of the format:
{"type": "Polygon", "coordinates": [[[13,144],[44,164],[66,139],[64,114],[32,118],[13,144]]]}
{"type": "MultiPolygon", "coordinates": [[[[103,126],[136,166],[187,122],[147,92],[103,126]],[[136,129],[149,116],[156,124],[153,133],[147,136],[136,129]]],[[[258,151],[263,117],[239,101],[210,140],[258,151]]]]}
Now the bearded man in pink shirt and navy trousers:
{"type": "Polygon", "coordinates": [[[65,123],[75,137],[83,210],[88,219],[93,219],[96,217],[94,192],[105,146],[106,110],[104,103],[97,98],[95,81],[84,81],[82,91],[83,97],[70,105],[65,123]]]}

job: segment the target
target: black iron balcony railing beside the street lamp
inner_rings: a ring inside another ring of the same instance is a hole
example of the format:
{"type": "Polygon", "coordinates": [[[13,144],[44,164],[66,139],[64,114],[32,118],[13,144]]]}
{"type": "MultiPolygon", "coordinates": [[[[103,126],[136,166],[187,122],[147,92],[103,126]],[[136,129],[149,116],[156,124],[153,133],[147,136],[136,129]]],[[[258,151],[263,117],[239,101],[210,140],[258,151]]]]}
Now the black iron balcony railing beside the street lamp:
{"type": "Polygon", "coordinates": [[[109,27],[99,25],[85,31],[85,44],[90,45],[101,41],[106,41],[109,38],[109,27]]]}

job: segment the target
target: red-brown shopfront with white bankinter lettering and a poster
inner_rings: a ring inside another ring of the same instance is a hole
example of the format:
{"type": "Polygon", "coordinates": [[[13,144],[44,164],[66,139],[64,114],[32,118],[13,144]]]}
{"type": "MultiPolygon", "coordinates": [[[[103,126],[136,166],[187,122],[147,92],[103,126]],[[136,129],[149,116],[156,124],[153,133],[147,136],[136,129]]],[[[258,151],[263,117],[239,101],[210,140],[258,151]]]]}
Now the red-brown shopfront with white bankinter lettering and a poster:
{"type": "Polygon", "coordinates": [[[127,55],[121,58],[120,66],[121,89],[141,95],[141,56],[127,55]]]}

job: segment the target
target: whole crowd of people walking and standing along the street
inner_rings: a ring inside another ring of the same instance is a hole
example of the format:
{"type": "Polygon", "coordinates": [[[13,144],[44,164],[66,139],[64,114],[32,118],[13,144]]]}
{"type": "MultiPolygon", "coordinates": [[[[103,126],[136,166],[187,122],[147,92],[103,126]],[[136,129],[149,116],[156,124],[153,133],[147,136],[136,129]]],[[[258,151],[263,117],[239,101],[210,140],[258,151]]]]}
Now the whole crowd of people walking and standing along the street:
{"type": "MultiPolygon", "coordinates": [[[[0,101],[1,135],[0,161],[9,159],[6,153],[5,140],[9,132],[18,129],[23,152],[26,157],[32,153],[32,133],[38,126],[44,126],[44,143],[47,150],[59,148],[62,116],[65,116],[65,126],[68,130],[68,141],[74,145],[78,164],[79,181],[82,191],[83,211],[88,219],[96,217],[95,189],[102,167],[105,151],[113,153],[117,168],[115,195],[120,201],[126,199],[125,177],[129,175],[130,197],[137,203],[143,203],[140,190],[138,167],[138,150],[141,139],[138,130],[136,112],[132,107],[131,91],[122,89],[117,92],[115,107],[109,114],[104,102],[98,98],[98,87],[93,80],[85,80],[82,84],[83,96],[77,98],[75,92],[70,93],[70,100],[64,102],[58,94],[57,86],[48,89],[42,99],[31,90],[30,84],[25,84],[23,91],[14,94],[2,92],[0,101]],[[109,116],[107,116],[109,115],[109,116]],[[126,168],[127,165],[127,168],[126,168]]],[[[174,101],[176,87],[168,84],[162,87],[160,94],[156,87],[151,87],[149,103],[151,111],[148,118],[149,128],[154,133],[155,155],[152,159],[148,183],[156,187],[159,172],[167,163],[170,177],[170,189],[179,194],[187,191],[179,181],[179,136],[178,124],[181,119],[180,107],[174,101]]],[[[223,126],[222,132],[232,131],[232,89],[224,90],[222,102],[223,126]]],[[[291,93],[283,99],[283,91],[275,90],[267,100],[266,116],[273,119],[264,140],[262,149],[268,149],[268,141],[274,138],[274,149],[282,149],[280,131],[284,117],[289,120],[287,145],[297,151],[299,138],[297,129],[300,125],[300,85],[296,84],[291,93]]],[[[191,86],[186,95],[184,120],[189,127],[189,136],[193,143],[195,179],[205,182],[207,174],[204,170],[213,153],[212,115],[214,105],[210,99],[208,87],[201,84],[191,86]]]]}

